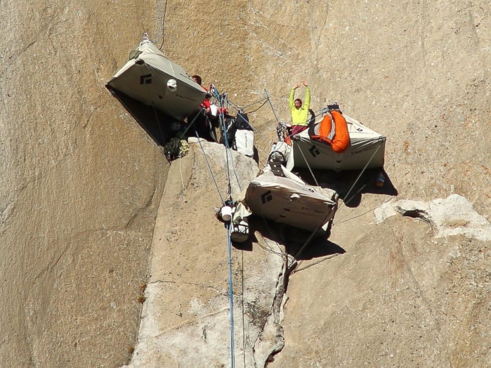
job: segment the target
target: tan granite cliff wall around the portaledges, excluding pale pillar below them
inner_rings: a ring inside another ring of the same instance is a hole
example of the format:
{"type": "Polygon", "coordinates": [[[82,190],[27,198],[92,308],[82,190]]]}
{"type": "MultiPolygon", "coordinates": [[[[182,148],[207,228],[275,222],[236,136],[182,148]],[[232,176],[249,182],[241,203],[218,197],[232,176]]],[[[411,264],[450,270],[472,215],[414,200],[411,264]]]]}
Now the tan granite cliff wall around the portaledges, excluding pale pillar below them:
{"type": "MultiPolygon", "coordinates": [[[[1,367],[130,360],[169,166],[104,84],[145,31],[239,105],[266,89],[283,120],[306,79],[314,109],[338,100],[388,137],[398,199],[456,193],[490,218],[488,1],[20,0],[0,18],[1,367]]],[[[274,116],[250,118],[263,162],[274,116]]],[[[390,195],[359,194],[330,238],[346,252],[291,275],[270,367],[489,366],[487,243],[400,214],[378,224],[390,195]]],[[[187,246],[216,221],[197,219],[173,229],[190,262],[218,241],[187,246]]]]}

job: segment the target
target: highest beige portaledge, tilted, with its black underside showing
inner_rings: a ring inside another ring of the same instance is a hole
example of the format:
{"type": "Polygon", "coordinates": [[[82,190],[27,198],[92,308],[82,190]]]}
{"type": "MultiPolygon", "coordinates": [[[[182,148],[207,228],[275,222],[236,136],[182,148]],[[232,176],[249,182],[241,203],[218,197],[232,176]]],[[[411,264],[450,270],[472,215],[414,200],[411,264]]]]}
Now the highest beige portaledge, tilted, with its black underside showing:
{"type": "Polygon", "coordinates": [[[198,110],[206,91],[145,35],[106,88],[161,146],[175,135],[171,125],[198,110]]]}

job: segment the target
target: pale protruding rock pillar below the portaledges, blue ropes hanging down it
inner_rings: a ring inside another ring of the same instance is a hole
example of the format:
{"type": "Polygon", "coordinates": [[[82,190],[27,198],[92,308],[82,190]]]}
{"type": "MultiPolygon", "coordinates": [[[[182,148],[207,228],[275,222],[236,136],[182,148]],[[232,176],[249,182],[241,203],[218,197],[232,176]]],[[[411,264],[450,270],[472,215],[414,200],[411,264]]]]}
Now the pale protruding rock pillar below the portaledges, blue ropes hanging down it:
{"type": "MultiPolygon", "coordinates": [[[[255,231],[251,222],[254,244],[232,248],[231,320],[227,230],[213,216],[213,207],[221,207],[220,196],[227,193],[225,147],[190,141],[189,154],[172,163],[165,184],[138,344],[125,367],[227,366],[232,341],[237,366],[264,367],[284,344],[279,314],[285,247],[271,234],[255,231]]],[[[237,198],[259,170],[252,158],[236,151],[230,151],[228,161],[235,168],[230,176],[237,198]]]]}

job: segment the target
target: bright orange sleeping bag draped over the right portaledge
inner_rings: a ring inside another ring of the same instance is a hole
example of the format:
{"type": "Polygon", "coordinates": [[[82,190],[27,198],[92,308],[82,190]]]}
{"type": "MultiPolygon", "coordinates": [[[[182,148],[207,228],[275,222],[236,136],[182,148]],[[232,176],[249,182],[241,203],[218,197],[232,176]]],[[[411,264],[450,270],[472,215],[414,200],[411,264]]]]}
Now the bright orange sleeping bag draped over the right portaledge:
{"type": "Polygon", "coordinates": [[[326,114],[319,124],[317,134],[312,135],[310,138],[318,139],[331,145],[333,151],[336,153],[343,153],[349,146],[348,125],[341,112],[333,110],[330,111],[330,113],[334,119],[334,137],[332,139],[328,138],[331,133],[333,122],[331,116],[326,114]]]}

